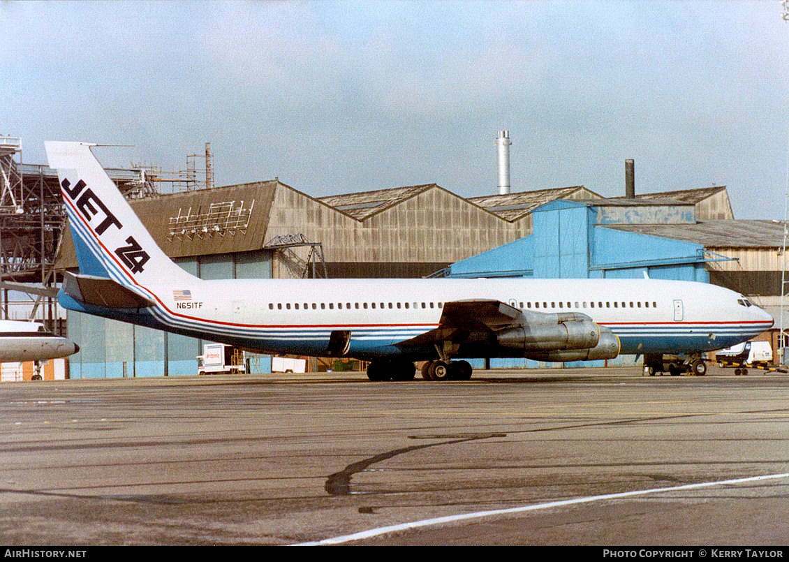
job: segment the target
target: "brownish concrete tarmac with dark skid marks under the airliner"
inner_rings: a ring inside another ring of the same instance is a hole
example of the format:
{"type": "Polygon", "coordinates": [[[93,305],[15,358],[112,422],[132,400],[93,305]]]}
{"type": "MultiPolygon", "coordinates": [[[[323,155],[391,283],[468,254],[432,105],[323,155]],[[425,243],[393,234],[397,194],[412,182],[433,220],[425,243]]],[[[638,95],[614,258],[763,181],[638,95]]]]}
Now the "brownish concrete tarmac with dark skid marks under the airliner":
{"type": "Polygon", "coordinates": [[[65,380],[0,408],[3,545],[789,544],[781,373],[65,380]]]}

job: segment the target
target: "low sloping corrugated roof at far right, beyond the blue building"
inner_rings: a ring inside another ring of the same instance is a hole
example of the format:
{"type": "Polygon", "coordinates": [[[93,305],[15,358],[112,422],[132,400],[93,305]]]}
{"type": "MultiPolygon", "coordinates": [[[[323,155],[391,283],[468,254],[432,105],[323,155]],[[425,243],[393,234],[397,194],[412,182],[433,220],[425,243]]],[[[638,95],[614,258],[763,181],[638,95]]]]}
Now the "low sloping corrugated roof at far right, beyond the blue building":
{"type": "Polygon", "coordinates": [[[708,248],[783,247],[783,223],[772,220],[716,219],[695,224],[607,224],[603,227],[694,242],[708,248]]]}

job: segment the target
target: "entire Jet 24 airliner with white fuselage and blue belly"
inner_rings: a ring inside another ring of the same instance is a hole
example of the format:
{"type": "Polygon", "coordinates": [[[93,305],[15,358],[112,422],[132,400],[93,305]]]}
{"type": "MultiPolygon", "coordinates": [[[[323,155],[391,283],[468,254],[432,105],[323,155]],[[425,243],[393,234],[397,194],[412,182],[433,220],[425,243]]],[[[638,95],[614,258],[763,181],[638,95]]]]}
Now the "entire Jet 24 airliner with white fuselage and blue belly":
{"type": "MultiPolygon", "coordinates": [[[[70,310],[259,353],[353,357],[371,380],[467,380],[458,358],[546,362],[701,354],[772,317],[731,290],[656,279],[199,279],[174,264],[91,152],[47,142],[79,273],[70,310]]],[[[703,365],[703,363],[701,363],[703,365]]]]}

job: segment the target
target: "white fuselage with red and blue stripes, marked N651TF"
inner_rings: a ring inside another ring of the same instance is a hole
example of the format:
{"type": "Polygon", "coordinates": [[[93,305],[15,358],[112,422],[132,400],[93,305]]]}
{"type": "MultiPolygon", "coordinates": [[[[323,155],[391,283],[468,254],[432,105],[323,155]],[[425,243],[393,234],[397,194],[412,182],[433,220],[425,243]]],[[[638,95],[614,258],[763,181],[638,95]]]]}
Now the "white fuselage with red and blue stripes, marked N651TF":
{"type": "Polygon", "coordinates": [[[656,279],[195,279],[144,288],[160,303],[149,325],[272,353],[320,354],[331,332],[349,331],[348,354],[391,354],[438,327],[443,303],[474,299],[584,313],[630,354],[715,350],[772,326],[731,290],[656,279]]]}

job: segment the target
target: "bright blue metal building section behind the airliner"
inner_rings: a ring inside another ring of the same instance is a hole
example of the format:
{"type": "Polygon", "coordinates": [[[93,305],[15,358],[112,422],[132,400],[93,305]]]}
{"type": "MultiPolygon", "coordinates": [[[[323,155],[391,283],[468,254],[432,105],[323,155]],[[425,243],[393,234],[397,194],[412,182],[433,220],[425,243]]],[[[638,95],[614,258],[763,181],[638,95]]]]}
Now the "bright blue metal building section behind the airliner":
{"type": "MultiPolygon", "coordinates": [[[[621,224],[695,224],[693,204],[675,200],[555,200],[533,211],[533,234],[452,264],[450,277],[680,279],[709,283],[704,245],[617,230],[621,224]]],[[[624,356],[608,365],[634,365],[624,356]]],[[[604,365],[604,362],[596,362],[604,365]]],[[[573,365],[590,365],[589,362],[573,365]]],[[[481,365],[477,365],[481,366],[481,365]]],[[[544,364],[492,359],[492,367],[544,364]]],[[[559,365],[557,365],[559,366],[559,365]]]]}

